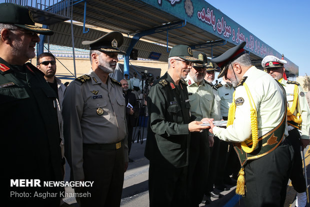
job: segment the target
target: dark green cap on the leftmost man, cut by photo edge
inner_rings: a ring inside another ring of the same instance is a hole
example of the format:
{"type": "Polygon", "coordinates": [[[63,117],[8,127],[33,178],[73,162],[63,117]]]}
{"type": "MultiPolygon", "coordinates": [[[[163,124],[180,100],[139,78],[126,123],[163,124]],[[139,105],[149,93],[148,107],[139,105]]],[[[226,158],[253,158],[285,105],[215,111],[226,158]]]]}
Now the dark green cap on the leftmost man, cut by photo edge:
{"type": "Polygon", "coordinates": [[[41,35],[54,34],[51,30],[35,26],[30,10],[20,5],[10,3],[0,4],[0,23],[12,24],[41,35]]]}

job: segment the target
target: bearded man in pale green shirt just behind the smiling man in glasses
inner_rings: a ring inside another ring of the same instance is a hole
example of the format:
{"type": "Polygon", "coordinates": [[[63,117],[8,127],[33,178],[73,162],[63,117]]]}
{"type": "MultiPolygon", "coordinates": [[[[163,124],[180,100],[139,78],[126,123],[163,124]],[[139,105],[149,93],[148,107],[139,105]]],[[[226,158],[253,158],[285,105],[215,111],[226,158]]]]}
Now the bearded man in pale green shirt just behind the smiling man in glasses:
{"type": "MultiPolygon", "coordinates": [[[[206,74],[207,58],[203,52],[193,52],[193,57],[203,61],[194,64],[185,81],[187,83],[190,113],[196,121],[213,117],[214,94],[212,86],[203,78],[206,74]]],[[[188,206],[198,206],[203,198],[209,167],[209,147],[213,145],[213,134],[207,130],[190,133],[188,185],[188,206]]]]}

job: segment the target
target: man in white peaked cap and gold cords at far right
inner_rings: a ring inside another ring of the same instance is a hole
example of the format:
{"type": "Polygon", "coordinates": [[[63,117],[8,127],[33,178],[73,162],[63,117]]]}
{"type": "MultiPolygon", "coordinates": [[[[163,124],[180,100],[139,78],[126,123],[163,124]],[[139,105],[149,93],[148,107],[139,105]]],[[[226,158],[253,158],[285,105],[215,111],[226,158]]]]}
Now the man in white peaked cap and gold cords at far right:
{"type": "Polygon", "coordinates": [[[304,93],[299,83],[295,81],[284,80],[285,60],[268,55],[261,61],[264,70],[277,80],[286,91],[287,100],[287,139],[294,147],[294,161],[292,171],[289,176],[296,193],[295,206],[305,206],[306,204],[306,186],[303,176],[302,159],[300,155],[300,146],[302,150],[309,144],[309,128],[310,128],[310,109],[305,100],[304,93]],[[299,131],[301,131],[301,136],[299,131]]]}

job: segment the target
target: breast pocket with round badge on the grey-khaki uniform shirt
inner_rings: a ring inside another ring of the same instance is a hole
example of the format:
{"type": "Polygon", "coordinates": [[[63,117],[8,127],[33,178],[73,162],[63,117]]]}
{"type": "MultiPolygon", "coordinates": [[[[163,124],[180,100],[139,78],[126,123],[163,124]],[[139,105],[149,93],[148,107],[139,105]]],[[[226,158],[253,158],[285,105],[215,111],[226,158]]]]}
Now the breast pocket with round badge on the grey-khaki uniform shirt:
{"type": "MultiPolygon", "coordinates": [[[[111,119],[110,111],[105,100],[98,101],[98,99],[90,99],[87,102],[87,108],[89,110],[87,114],[89,114],[90,117],[93,116],[93,114],[97,114],[98,116],[102,116],[106,120],[111,119]]],[[[87,116],[87,114],[85,114],[85,116],[87,116]]]]}

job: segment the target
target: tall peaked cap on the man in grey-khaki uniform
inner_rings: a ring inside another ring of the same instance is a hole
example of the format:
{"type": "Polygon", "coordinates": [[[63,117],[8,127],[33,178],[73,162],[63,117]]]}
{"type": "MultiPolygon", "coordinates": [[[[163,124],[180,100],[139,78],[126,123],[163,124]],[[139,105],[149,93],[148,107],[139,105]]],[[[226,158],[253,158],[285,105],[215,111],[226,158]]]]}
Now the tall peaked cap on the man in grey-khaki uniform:
{"type": "Polygon", "coordinates": [[[101,52],[115,52],[126,55],[125,52],[118,49],[122,45],[124,37],[120,32],[110,32],[93,41],[83,41],[82,45],[89,45],[90,50],[101,52]]]}

